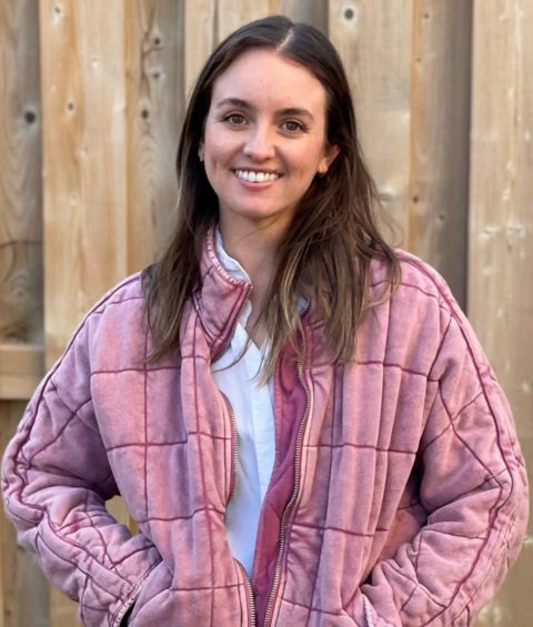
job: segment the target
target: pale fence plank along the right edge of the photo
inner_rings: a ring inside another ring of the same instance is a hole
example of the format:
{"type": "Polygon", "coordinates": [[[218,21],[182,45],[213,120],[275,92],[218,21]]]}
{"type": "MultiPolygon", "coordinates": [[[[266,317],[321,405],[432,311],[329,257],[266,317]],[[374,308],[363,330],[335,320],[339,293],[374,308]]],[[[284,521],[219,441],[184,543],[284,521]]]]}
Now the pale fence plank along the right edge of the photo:
{"type": "MultiPolygon", "coordinates": [[[[533,6],[476,1],[473,23],[469,313],[510,397],[531,473],[533,6]]],[[[516,566],[477,624],[531,625],[532,576],[530,522],[516,566]]]]}

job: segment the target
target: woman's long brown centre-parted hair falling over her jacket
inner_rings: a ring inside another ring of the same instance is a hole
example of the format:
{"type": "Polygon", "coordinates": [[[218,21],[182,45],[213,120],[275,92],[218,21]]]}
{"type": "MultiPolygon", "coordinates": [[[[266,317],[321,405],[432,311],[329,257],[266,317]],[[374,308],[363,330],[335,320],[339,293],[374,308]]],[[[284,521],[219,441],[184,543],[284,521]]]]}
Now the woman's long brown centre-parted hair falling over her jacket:
{"type": "Polygon", "coordinates": [[[272,372],[283,345],[301,328],[298,303],[302,296],[324,320],[331,358],[345,362],[353,355],[355,330],[369,305],[371,259],[388,262],[391,284],[398,279],[398,261],[376,227],[376,193],[361,156],[339,54],[326,37],[308,24],[281,16],[251,22],[230,34],[208,59],[187,109],[177,161],[177,229],[160,261],[143,275],[154,346],[148,358],[151,363],[179,348],[183,307],[201,286],[204,239],[219,216],[218,198],[198,156],[213,84],[251,49],[275,50],[322,83],[328,94],[326,140],[339,148],[326,176],[315,176],[299,202],[279,244],[276,270],[260,316],[271,343],[263,374],[272,372]]]}

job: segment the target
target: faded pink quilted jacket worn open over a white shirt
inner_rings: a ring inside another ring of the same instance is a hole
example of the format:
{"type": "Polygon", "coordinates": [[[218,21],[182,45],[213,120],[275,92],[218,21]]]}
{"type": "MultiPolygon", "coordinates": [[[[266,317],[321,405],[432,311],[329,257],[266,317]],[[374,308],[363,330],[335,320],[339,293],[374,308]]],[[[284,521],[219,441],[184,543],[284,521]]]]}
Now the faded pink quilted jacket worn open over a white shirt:
{"type": "MultiPolygon", "coordinates": [[[[224,512],[238,437],[211,362],[248,286],[211,237],[182,323],[182,358],[144,365],[135,275],[83,320],[3,462],[20,543],[86,625],[467,625],[515,559],[526,477],[507,403],[442,279],[402,254],[356,358],[332,365],[304,314],[308,361],[275,374],[276,457],[251,582],[224,512]],[[131,536],[105,510],[121,494],[131,536]]],[[[383,291],[374,263],[372,292],[383,291]]]]}

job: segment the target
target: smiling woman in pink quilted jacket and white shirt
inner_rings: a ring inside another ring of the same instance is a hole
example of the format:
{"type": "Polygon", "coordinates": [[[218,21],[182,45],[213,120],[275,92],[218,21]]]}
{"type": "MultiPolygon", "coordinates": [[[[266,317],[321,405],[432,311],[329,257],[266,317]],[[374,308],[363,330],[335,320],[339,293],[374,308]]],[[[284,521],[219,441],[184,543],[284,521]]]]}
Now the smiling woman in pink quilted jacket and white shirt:
{"type": "Polygon", "coordinates": [[[446,285],[379,234],[328,40],[276,17],[223,41],[178,175],[169,249],[7,451],[20,542],[91,626],[470,624],[524,534],[523,461],[446,285]]]}

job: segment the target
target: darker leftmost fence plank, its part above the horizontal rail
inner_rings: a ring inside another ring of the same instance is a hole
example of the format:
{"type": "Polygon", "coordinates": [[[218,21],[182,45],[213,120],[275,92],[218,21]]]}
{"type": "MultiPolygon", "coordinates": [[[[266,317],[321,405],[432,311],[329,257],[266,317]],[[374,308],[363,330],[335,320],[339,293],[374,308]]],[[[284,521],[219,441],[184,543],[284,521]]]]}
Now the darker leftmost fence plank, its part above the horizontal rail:
{"type": "Polygon", "coordinates": [[[37,0],[0,2],[0,342],[42,340],[37,0]]]}

